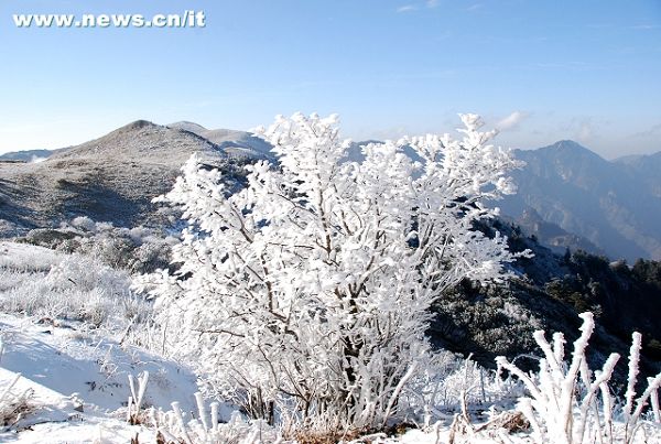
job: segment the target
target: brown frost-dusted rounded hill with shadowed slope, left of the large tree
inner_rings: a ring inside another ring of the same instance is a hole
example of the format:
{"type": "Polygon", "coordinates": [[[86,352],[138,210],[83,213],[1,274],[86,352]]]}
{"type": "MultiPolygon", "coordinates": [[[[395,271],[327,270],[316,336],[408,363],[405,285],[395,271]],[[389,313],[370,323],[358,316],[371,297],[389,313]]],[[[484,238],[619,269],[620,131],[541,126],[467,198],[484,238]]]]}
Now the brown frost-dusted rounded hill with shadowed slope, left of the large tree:
{"type": "Polygon", "coordinates": [[[158,224],[151,199],[169,191],[193,153],[227,155],[188,131],[139,120],[40,163],[0,163],[0,235],[85,215],[120,226],[158,224]]]}

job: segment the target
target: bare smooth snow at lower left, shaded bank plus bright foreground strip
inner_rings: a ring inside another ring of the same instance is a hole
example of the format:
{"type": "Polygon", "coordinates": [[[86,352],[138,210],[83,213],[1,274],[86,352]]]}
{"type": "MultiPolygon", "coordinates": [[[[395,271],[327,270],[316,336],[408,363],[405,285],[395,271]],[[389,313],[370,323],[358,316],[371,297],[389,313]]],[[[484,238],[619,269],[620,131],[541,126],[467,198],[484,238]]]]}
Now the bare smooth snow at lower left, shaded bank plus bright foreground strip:
{"type": "Polygon", "coordinates": [[[194,410],[195,376],[137,347],[83,333],[76,324],[35,324],[8,314],[0,315],[0,388],[20,373],[12,392],[33,391],[31,411],[0,441],[71,443],[104,436],[100,442],[127,443],[136,433],[150,434],[129,426],[122,413],[128,376],[142,371],[150,373],[143,405],[167,410],[177,401],[184,411],[194,410]]]}

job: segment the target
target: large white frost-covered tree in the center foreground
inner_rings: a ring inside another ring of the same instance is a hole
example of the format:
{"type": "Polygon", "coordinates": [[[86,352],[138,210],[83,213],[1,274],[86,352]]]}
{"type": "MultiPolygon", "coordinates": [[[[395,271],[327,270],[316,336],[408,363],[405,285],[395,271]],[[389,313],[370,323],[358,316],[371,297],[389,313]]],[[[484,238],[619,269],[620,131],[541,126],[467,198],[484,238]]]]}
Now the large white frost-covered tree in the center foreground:
{"type": "Polygon", "coordinates": [[[177,274],[147,277],[165,337],[213,389],[256,416],[338,430],[380,425],[431,356],[427,308],[448,285],[499,280],[514,260],[475,223],[519,166],[475,115],[448,134],[361,147],[337,118],[278,117],[257,133],[277,164],[230,194],[192,158],[161,201],[183,207],[177,274]],[[169,332],[169,333],[167,333],[169,332]]]}

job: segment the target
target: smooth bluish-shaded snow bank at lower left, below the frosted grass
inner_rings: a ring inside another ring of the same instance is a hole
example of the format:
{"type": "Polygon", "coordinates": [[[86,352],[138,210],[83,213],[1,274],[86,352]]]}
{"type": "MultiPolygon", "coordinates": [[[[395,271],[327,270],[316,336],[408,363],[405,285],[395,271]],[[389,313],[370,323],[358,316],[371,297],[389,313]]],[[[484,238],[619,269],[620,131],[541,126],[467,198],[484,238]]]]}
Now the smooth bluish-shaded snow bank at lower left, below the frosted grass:
{"type": "Polygon", "coordinates": [[[4,350],[1,367],[24,379],[71,397],[78,393],[87,412],[126,407],[128,376],[149,371],[148,405],[167,408],[178,401],[193,409],[195,377],[185,368],[106,335],[85,332],[79,324],[20,320],[0,315],[4,350]]]}

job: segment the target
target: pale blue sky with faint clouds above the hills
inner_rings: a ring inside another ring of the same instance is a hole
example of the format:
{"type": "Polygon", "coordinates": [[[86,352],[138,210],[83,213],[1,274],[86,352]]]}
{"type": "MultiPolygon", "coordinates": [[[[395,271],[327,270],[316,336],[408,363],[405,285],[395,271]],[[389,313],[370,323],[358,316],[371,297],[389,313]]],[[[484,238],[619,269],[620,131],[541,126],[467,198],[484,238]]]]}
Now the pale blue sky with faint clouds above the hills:
{"type": "Polygon", "coordinates": [[[345,136],[574,139],[661,151],[659,0],[3,0],[0,152],[59,148],[142,118],[249,129],[339,112],[345,136]],[[204,29],[17,29],[13,13],[204,10],[204,29]]]}

